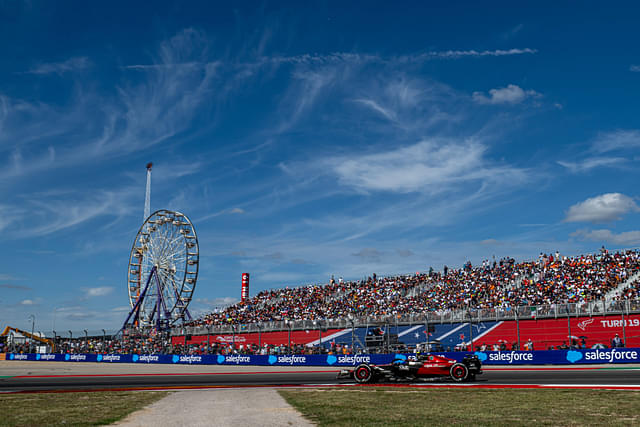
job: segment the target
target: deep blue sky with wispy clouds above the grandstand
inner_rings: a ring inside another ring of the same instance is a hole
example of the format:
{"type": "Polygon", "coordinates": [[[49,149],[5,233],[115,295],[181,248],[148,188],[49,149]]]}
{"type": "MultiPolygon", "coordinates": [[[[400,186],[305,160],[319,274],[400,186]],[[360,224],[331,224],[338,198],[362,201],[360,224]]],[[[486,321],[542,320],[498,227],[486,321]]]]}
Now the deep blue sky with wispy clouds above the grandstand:
{"type": "Polygon", "coordinates": [[[638,8],[0,0],[0,325],[117,328],[152,211],[193,313],[640,243],[638,8]]]}

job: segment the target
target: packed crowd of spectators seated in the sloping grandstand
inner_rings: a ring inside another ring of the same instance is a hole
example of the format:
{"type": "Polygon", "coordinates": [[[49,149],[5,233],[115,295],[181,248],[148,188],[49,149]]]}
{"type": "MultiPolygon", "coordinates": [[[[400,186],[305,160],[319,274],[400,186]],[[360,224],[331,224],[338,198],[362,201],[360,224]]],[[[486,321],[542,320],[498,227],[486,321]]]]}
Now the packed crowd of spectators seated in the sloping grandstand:
{"type": "MultiPolygon", "coordinates": [[[[461,309],[508,308],[601,300],[640,270],[640,252],[575,257],[540,254],[537,260],[513,258],[466,263],[460,269],[394,277],[372,275],[360,281],[335,281],[260,292],[255,297],[209,313],[190,326],[249,324],[279,320],[339,319],[446,313],[461,309]]],[[[640,285],[622,296],[638,296],[640,285]]]]}

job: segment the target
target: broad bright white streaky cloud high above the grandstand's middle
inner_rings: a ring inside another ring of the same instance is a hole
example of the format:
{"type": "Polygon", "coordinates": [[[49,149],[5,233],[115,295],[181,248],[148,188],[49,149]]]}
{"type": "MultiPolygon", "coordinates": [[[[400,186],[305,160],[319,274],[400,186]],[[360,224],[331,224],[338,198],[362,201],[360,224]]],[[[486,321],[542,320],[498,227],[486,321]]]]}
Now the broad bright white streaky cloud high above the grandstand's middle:
{"type": "Polygon", "coordinates": [[[376,154],[333,158],[327,165],[343,185],[364,191],[436,194],[473,182],[526,179],[522,169],[490,164],[486,150],[475,140],[434,139],[376,154]]]}

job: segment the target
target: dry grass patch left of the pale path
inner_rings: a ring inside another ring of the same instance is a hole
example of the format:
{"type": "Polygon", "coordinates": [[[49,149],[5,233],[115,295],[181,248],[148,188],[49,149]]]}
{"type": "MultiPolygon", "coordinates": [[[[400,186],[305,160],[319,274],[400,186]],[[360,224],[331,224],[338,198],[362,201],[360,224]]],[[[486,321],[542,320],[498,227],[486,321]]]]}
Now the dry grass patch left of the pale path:
{"type": "Polygon", "coordinates": [[[166,395],[155,391],[0,394],[0,426],[111,424],[166,395]]]}

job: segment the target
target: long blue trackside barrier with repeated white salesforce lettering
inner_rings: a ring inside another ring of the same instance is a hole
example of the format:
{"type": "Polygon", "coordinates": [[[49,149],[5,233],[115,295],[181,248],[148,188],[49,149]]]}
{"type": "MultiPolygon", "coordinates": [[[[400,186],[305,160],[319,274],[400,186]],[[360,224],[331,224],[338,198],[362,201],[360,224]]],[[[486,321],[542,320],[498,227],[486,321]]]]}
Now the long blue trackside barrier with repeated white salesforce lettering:
{"type": "MultiPolygon", "coordinates": [[[[434,353],[436,354],[436,353],[434,353]]],[[[468,352],[442,352],[439,355],[462,360],[468,352]]],[[[577,365],[602,363],[640,363],[640,348],[612,348],[549,351],[476,351],[484,365],[577,365]]],[[[255,365],[255,366],[355,366],[360,363],[384,364],[406,359],[411,354],[358,355],[172,355],[172,354],[16,354],[6,360],[97,362],[97,363],[164,363],[187,365],[255,365]]]]}

